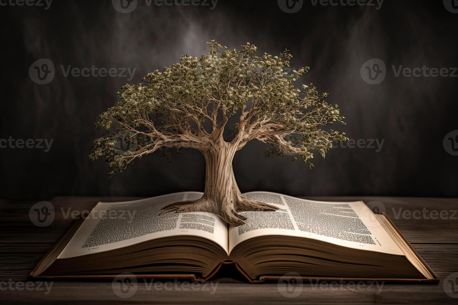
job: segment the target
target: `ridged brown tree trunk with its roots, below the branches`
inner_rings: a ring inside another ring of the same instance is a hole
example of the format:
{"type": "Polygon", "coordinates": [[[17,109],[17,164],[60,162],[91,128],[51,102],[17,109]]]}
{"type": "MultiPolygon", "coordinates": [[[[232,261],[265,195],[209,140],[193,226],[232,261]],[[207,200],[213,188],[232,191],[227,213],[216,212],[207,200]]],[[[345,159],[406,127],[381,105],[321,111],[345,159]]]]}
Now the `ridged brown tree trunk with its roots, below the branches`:
{"type": "Polygon", "coordinates": [[[237,212],[277,210],[273,205],[248,200],[242,196],[232,169],[235,152],[236,147],[227,142],[204,152],[206,169],[203,196],[194,201],[169,204],[163,208],[162,214],[210,212],[219,214],[229,225],[243,225],[246,218],[237,212]]]}

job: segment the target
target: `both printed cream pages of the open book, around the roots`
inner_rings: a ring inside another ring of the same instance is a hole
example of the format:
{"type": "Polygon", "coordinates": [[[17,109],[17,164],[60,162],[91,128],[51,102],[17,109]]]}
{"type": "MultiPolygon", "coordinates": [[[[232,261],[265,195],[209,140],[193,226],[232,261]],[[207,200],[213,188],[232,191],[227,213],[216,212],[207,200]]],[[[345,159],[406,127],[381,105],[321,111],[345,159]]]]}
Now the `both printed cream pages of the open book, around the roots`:
{"type": "Polygon", "coordinates": [[[256,236],[288,235],[403,254],[382,226],[373,224],[376,219],[360,218],[358,214],[370,215],[363,213],[368,208],[362,202],[329,203],[267,192],[246,193],[244,195],[251,200],[275,204],[280,209],[276,212],[242,212],[247,218],[246,224],[229,227],[229,235],[227,224],[216,214],[195,212],[159,216],[165,205],[193,200],[201,195],[176,193],[124,203],[98,203],[94,208],[97,214],[89,215],[59,258],[109,251],[146,240],[183,234],[210,239],[228,253],[235,245],[256,236]],[[104,217],[91,217],[100,214],[104,217]],[[364,221],[371,223],[371,229],[364,221]]]}

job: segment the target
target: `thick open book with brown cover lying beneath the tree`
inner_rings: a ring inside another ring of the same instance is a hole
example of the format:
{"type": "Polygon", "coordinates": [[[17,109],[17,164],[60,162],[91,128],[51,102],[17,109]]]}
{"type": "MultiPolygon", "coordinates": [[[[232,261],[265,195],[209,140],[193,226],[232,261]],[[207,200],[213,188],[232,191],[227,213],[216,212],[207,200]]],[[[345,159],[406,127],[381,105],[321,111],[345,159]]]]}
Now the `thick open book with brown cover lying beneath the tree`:
{"type": "Polygon", "coordinates": [[[365,203],[321,202],[277,193],[244,196],[278,206],[242,212],[245,225],[216,214],[159,216],[161,208],[202,193],[173,193],[98,203],[73,225],[33,270],[33,278],[152,278],[208,280],[234,263],[251,282],[286,273],[324,280],[352,278],[437,282],[437,277],[384,214],[365,203]]]}

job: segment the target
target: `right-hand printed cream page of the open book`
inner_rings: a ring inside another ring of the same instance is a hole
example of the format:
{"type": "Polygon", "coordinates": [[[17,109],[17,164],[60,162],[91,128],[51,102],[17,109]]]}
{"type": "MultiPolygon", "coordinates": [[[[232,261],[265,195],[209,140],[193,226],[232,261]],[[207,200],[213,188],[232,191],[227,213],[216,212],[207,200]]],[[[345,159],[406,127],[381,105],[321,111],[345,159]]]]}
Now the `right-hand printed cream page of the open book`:
{"type": "Polygon", "coordinates": [[[325,202],[278,193],[251,192],[246,198],[277,206],[276,212],[242,212],[245,225],[229,227],[229,253],[247,239],[288,235],[354,249],[403,255],[403,251],[362,201],[325,202]]]}

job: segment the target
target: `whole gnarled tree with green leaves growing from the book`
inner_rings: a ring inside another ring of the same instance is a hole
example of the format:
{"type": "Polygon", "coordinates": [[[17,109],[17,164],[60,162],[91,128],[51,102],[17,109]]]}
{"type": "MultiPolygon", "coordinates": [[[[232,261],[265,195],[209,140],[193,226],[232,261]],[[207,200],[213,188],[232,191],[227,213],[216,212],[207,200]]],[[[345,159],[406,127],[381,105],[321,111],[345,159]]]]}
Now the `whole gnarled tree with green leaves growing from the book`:
{"type": "Polygon", "coordinates": [[[347,140],[344,133],[321,128],[345,124],[344,117],[313,84],[294,86],[309,67],[286,75],[284,68],[293,57],[288,50],[257,56],[251,43],[233,50],[214,40],[208,45],[210,52],[201,58],[183,55],[179,63],[147,74],[143,82],[123,86],[120,101],[96,123],[107,135],[94,141],[90,158],[105,156],[111,176],[156,150],[168,158],[168,148],[199,150],[206,163],[202,198],[170,204],[163,213],[211,212],[241,225],[246,218],[239,212],[278,208],[242,196],[232,169],[235,153],[257,139],[271,145],[267,155],[290,155],[293,161],[298,155],[312,167],[311,151],[324,158],[333,140],[347,140]],[[231,127],[233,139],[226,141],[231,116],[238,116],[238,123],[231,127]],[[120,138],[129,150],[117,147],[120,138]]]}

